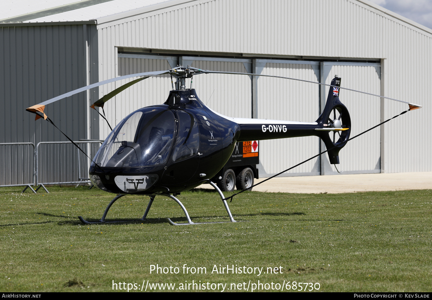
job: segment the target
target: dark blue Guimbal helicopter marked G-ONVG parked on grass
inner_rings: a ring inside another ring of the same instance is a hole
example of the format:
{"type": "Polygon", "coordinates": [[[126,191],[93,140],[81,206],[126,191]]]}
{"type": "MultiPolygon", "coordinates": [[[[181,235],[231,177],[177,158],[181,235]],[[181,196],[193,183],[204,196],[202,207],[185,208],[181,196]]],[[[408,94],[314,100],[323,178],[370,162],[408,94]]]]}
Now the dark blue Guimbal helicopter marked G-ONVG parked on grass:
{"type": "MultiPolygon", "coordinates": [[[[209,183],[218,191],[230,221],[236,222],[221,189],[211,179],[228,161],[236,143],[242,141],[318,136],[324,141],[330,163],[339,164],[339,151],[349,140],[351,118],[348,109],[339,99],[341,78],[337,75],[330,85],[327,85],[330,86],[327,102],[318,119],[313,122],[299,122],[232,118],[213,111],[200,100],[197,91],[192,88],[192,77],[202,73],[256,76],[250,73],[210,71],[178,65],[165,71],[130,74],[94,83],[26,109],[35,113],[36,119],[44,118],[54,124],[44,113],[45,105],[86,89],[121,79],[140,77],[114,89],[91,105],[93,109],[98,106],[103,110],[106,101],[143,79],[161,74],[170,74],[171,78],[177,79],[175,84],[172,80],[172,90],[163,104],[147,106],[130,113],[108,134],[92,159],[89,177],[97,188],[118,195],[108,204],[100,220],[87,221],[79,217],[81,222],[119,222],[107,221],[105,218],[111,205],[124,195],[149,196],[146,211],[137,221],[146,220],[156,195],[161,195],[176,201],[186,216],[187,223],[174,223],[167,218],[171,225],[225,223],[194,223],[184,205],[176,197],[182,191],[191,190],[203,183],[209,183]],[[186,88],[188,78],[191,79],[189,89],[186,88]]],[[[412,103],[409,105],[410,109],[421,107],[412,103]]],[[[106,120],[105,112],[104,115],[100,115],[106,120]]]]}

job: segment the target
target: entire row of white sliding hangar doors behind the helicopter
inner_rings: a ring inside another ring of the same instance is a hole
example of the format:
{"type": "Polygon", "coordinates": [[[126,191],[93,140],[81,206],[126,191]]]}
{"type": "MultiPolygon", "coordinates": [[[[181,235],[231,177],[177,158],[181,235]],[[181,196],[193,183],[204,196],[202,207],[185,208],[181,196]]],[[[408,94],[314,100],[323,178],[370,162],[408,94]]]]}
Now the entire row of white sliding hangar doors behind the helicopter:
{"type": "MultiPolygon", "coordinates": [[[[166,70],[177,64],[200,69],[258,73],[299,78],[329,84],[335,74],[342,77],[342,86],[368,93],[380,93],[380,64],[355,62],[292,61],[275,59],[244,59],[228,57],[162,56],[149,54],[118,54],[118,76],[166,70]]],[[[132,79],[130,79],[132,80],[132,79]]],[[[127,81],[116,83],[121,86],[127,81]]],[[[190,81],[187,80],[187,87],[190,81]]],[[[247,75],[202,74],[193,79],[192,88],[211,109],[239,118],[315,121],[324,108],[328,87],[296,80],[247,75]],[[256,95],[252,90],[256,85],[256,95]],[[256,112],[252,106],[256,104],[256,112]]],[[[117,124],[130,112],[148,105],[161,104],[171,89],[169,75],[150,77],[116,96],[111,105],[117,124]]],[[[380,121],[378,97],[341,90],[341,101],[352,119],[354,136],[380,121]]],[[[101,122],[101,128],[107,127],[101,122]]],[[[109,129],[105,128],[106,136],[109,129]]],[[[260,142],[260,176],[271,176],[325,150],[318,137],[296,137],[260,142]]],[[[375,129],[353,141],[340,151],[340,171],[349,173],[380,172],[380,132],[375,129]]],[[[337,174],[326,154],[315,158],[282,176],[337,174]]]]}

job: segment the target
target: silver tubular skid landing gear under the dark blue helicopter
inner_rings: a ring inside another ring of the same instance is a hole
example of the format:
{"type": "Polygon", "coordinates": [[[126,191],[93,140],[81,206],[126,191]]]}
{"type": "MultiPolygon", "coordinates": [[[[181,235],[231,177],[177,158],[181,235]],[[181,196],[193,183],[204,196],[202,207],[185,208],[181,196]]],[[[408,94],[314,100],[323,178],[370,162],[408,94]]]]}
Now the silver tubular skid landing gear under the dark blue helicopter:
{"type": "MultiPolygon", "coordinates": [[[[217,185],[215,185],[215,184],[214,184],[213,182],[211,182],[210,180],[208,181],[208,183],[209,183],[210,185],[212,185],[213,188],[216,189],[216,191],[218,191],[219,196],[220,196],[220,198],[222,199],[223,205],[225,205],[226,212],[228,213],[229,220],[230,220],[229,222],[237,222],[237,221],[234,220],[234,218],[232,217],[231,211],[229,210],[229,207],[228,207],[228,203],[226,202],[225,197],[224,197],[224,195],[222,194],[222,191],[217,187],[217,185]]],[[[106,220],[105,220],[105,217],[107,216],[108,211],[109,211],[111,205],[114,204],[115,201],[117,201],[119,198],[121,198],[121,197],[123,197],[123,196],[125,196],[125,195],[120,194],[120,195],[117,195],[116,197],[114,197],[114,199],[111,200],[111,202],[108,204],[107,208],[105,208],[105,212],[104,212],[104,214],[103,214],[103,216],[102,216],[102,218],[101,218],[100,220],[98,220],[98,221],[86,221],[86,220],[84,220],[83,217],[78,217],[79,220],[80,220],[81,222],[83,222],[84,224],[121,223],[121,222],[134,222],[134,221],[139,222],[139,221],[145,221],[145,220],[146,220],[146,217],[147,217],[147,214],[149,213],[150,207],[152,206],[153,201],[155,200],[155,197],[156,197],[155,195],[150,196],[149,204],[147,204],[146,211],[144,212],[144,215],[143,215],[143,217],[142,217],[141,219],[139,219],[139,220],[119,220],[119,221],[106,221],[106,220]]],[[[170,223],[171,225],[179,226],[179,225],[194,225],[194,224],[216,224],[216,223],[228,223],[228,222],[199,222],[199,223],[194,223],[194,222],[192,222],[191,217],[189,217],[189,214],[187,213],[186,207],[184,207],[184,205],[181,203],[180,200],[178,200],[178,198],[176,198],[175,196],[170,195],[170,194],[162,194],[161,196],[169,197],[169,198],[171,198],[172,200],[174,200],[175,202],[177,202],[178,205],[180,205],[181,209],[183,210],[184,214],[186,215],[187,223],[174,223],[170,218],[166,218],[166,220],[168,220],[168,223],[170,223]]]]}

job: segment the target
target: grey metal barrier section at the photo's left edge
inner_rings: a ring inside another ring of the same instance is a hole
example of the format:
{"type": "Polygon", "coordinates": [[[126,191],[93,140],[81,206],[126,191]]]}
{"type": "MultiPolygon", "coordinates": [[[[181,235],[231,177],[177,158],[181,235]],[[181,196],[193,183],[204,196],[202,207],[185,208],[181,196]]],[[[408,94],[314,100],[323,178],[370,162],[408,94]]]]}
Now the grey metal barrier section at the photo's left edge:
{"type": "Polygon", "coordinates": [[[35,185],[35,144],[0,144],[0,187],[25,186],[36,192],[35,185]]]}

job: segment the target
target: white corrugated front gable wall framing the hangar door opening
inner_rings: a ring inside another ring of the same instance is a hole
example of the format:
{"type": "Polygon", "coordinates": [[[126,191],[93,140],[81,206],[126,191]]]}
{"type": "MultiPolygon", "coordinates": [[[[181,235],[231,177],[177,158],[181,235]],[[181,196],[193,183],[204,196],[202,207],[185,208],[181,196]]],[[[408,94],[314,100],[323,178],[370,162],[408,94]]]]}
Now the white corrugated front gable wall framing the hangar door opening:
{"type": "MultiPolygon", "coordinates": [[[[384,170],[432,170],[432,131],[426,130],[432,114],[432,105],[427,105],[431,102],[432,34],[367,4],[355,0],[197,0],[100,24],[98,30],[103,60],[100,80],[116,75],[115,46],[255,57],[385,58],[385,96],[419,102],[424,108],[385,125],[384,170]]],[[[101,89],[101,96],[110,90],[112,86],[101,89]]],[[[386,118],[407,106],[384,102],[386,118]]]]}

